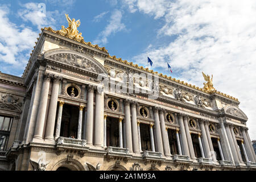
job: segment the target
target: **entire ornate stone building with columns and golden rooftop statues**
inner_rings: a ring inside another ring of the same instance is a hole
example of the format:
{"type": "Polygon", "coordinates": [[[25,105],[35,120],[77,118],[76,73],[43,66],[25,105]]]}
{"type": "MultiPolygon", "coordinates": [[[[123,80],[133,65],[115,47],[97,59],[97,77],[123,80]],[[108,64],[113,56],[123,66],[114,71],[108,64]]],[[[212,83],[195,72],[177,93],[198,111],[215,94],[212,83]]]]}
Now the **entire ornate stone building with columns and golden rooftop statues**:
{"type": "Polygon", "coordinates": [[[42,30],[22,77],[0,73],[0,169],[256,169],[240,102],[212,78],[117,59],[69,24],[42,30]]]}

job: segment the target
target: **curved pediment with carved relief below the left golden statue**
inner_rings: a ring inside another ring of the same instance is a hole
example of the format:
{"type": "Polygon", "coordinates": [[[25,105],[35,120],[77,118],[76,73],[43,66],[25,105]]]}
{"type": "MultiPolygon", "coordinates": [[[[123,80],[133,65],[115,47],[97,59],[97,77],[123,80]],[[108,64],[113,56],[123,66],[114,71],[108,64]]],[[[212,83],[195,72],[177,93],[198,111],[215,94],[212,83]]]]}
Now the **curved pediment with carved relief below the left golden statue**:
{"type": "Polygon", "coordinates": [[[106,73],[106,69],[96,59],[84,53],[69,49],[51,49],[44,53],[44,58],[72,65],[73,67],[86,69],[93,73],[106,73]]]}

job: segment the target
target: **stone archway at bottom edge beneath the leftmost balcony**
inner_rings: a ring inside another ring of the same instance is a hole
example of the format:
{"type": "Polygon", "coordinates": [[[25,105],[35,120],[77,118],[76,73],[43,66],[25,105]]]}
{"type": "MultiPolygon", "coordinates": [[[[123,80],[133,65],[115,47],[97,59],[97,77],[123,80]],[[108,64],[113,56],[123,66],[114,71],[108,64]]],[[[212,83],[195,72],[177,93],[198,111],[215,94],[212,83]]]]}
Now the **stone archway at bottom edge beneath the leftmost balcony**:
{"type": "Polygon", "coordinates": [[[76,159],[69,163],[67,163],[67,159],[62,159],[53,166],[51,171],[86,171],[86,169],[76,159]]]}

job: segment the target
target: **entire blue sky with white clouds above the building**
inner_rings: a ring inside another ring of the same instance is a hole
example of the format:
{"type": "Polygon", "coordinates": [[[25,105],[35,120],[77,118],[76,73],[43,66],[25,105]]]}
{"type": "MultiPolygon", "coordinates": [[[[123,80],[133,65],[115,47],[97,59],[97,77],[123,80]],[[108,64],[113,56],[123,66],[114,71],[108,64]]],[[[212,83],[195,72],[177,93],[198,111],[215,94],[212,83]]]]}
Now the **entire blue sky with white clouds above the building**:
{"type": "Polygon", "coordinates": [[[40,28],[67,27],[65,13],[112,56],[144,67],[149,56],[154,71],[199,87],[202,71],[213,74],[217,90],[240,100],[256,139],[254,0],[0,0],[0,71],[21,76],[40,28]]]}

